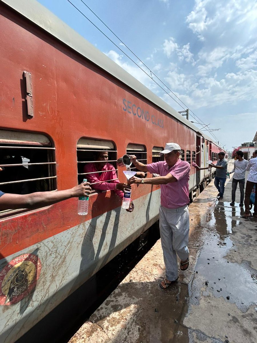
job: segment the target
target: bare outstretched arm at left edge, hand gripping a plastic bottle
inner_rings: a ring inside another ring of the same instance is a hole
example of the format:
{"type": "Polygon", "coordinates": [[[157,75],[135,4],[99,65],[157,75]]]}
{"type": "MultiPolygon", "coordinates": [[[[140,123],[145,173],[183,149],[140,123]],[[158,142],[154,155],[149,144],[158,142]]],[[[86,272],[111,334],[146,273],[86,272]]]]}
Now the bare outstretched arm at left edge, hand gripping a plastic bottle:
{"type": "MultiPolygon", "coordinates": [[[[2,171],[1,167],[0,171],[2,171]]],[[[0,190],[0,211],[11,209],[37,209],[55,204],[62,200],[88,196],[90,192],[91,187],[89,182],[82,182],[82,184],[71,189],[56,192],[50,191],[30,194],[12,194],[4,193],[0,190]]]]}

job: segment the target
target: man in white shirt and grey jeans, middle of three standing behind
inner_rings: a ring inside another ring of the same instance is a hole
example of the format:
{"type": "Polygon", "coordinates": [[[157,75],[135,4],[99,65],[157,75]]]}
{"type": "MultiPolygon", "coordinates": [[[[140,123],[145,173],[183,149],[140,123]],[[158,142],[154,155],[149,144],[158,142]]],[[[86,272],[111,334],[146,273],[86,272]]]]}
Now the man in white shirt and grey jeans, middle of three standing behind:
{"type": "Polygon", "coordinates": [[[234,162],[234,169],[229,173],[233,175],[232,180],[232,201],[230,203],[230,206],[235,205],[235,192],[237,188],[237,184],[239,184],[240,187],[240,207],[244,206],[244,188],[245,188],[245,169],[248,165],[248,161],[246,159],[243,159],[244,153],[241,150],[238,150],[235,154],[235,162],[234,162]]]}

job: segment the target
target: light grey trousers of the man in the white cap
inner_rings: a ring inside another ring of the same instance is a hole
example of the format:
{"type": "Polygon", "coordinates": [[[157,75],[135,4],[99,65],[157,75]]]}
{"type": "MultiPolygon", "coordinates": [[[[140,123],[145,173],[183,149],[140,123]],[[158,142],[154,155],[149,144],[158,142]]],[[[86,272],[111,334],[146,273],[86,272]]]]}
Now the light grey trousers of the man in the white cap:
{"type": "Polygon", "coordinates": [[[189,251],[189,213],[188,206],[178,209],[167,209],[160,206],[160,235],[166,278],[174,281],[178,278],[177,255],[182,261],[188,257],[189,251]]]}

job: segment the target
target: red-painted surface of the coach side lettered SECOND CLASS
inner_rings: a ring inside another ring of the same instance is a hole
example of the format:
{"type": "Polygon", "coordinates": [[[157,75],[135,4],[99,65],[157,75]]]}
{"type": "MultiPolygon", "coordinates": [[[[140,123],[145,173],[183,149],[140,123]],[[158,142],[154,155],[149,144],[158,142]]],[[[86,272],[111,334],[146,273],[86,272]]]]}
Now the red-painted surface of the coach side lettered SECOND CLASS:
{"type": "MultiPolygon", "coordinates": [[[[51,138],[56,147],[58,189],[77,183],[76,143],[81,137],[113,141],[118,156],[126,152],[129,143],[145,145],[148,163],[152,162],[152,147],[164,146],[166,141],[195,150],[193,130],[6,8],[1,27],[2,122],[8,129],[40,131],[51,138]],[[24,117],[24,70],[32,74],[32,119],[24,117]]],[[[119,177],[125,181],[122,170],[119,177]]],[[[133,199],[158,189],[133,186],[133,199]]],[[[96,215],[120,205],[118,197],[112,197],[112,202],[103,198],[102,194],[92,198],[96,215]]],[[[18,218],[11,218],[16,229],[10,240],[4,241],[3,256],[19,251],[18,246],[30,246],[79,224],[82,219],[76,214],[76,201],[70,202],[72,211],[60,203],[22,216],[26,230],[17,225],[18,218]]],[[[11,225],[7,221],[4,225],[11,225]]]]}

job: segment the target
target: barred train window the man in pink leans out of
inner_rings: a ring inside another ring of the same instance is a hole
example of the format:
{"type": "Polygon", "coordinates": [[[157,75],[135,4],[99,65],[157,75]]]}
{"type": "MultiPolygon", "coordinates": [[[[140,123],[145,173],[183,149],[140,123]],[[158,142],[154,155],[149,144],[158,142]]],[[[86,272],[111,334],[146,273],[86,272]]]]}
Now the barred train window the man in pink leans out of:
{"type": "MultiPolygon", "coordinates": [[[[110,141],[100,141],[97,139],[92,138],[81,138],[78,140],[77,143],[77,166],[78,166],[78,183],[80,184],[83,179],[90,180],[90,174],[99,174],[105,173],[105,171],[88,171],[90,165],[96,163],[102,163],[103,161],[108,161],[108,163],[112,164],[115,168],[117,173],[117,150],[114,146],[113,142],[110,141]],[[108,160],[102,159],[100,161],[96,161],[96,159],[103,154],[103,152],[108,152],[108,160]]],[[[91,170],[91,169],[90,169],[91,170]]],[[[112,179],[113,180],[113,179],[112,179]]],[[[115,178],[117,180],[117,178],[115,178]]],[[[94,185],[99,182],[91,182],[92,190],[94,185]]],[[[106,182],[111,180],[105,180],[106,182]]],[[[93,190],[94,191],[94,190],[93,190]]]]}

